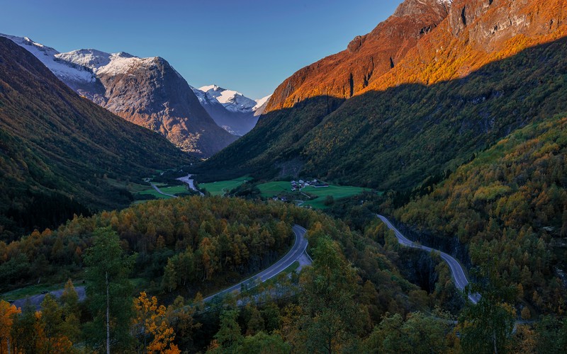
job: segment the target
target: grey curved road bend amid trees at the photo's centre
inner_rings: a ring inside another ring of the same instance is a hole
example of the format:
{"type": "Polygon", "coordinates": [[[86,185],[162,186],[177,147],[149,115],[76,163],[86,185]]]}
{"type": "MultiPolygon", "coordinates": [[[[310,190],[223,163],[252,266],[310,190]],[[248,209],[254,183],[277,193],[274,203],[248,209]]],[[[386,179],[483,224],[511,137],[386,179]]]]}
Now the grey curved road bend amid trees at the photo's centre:
{"type": "Polygon", "coordinates": [[[307,232],[307,230],[299,225],[293,225],[291,229],[293,230],[293,234],[296,235],[296,241],[293,244],[293,247],[291,247],[291,250],[286,254],[286,256],[283,256],[279,261],[271,265],[269,268],[262,270],[262,272],[258,273],[257,275],[254,275],[253,277],[250,277],[246,280],[242,280],[242,282],[232,285],[231,287],[228,287],[228,289],[222,290],[213,295],[210,295],[209,297],[204,298],[203,302],[208,302],[219,295],[227,295],[230,292],[240,292],[243,284],[254,285],[256,282],[265,282],[266,280],[274,278],[276,275],[283,272],[283,270],[293,264],[293,262],[297,261],[298,258],[300,258],[307,249],[308,242],[307,239],[305,239],[305,232],[307,232]]]}

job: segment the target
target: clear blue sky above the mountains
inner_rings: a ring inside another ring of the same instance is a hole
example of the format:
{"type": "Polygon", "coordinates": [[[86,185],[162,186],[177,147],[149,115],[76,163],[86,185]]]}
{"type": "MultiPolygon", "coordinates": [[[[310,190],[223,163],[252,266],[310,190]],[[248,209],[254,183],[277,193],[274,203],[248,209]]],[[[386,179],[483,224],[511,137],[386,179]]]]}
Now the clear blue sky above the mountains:
{"type": "Polygon", "coordinates": [[[268,95],[296,70],[344,50],[400,0],[0,0],[0,33],[60,52],[164,57],[193,86],[268,95]]]}

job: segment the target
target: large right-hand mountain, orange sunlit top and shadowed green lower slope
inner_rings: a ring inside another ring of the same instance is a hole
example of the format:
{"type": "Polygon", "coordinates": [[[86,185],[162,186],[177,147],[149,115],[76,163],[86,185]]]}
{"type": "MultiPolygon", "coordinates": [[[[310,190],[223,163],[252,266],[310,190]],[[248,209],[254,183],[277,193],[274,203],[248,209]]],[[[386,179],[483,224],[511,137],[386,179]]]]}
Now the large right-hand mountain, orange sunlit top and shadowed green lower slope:
{"type": "Polygon", "coordinates": [[[406,0],[276,89],[199,173],[408,190],[567,109],[564,1],[406,0]]]}

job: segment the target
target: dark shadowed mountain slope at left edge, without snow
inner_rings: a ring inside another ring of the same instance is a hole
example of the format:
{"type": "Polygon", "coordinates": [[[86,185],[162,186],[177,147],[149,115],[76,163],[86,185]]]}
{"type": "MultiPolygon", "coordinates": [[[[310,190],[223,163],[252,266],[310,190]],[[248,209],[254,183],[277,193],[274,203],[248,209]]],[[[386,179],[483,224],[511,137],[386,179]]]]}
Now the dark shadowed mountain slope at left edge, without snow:
{"type": "MultiPolygon", "coordinates": [[[[50,49],[43,49],[47,59],[50,49]]],[[[129,205],[132,195],[112,180],[140,179],[193,161],[161,135],[80,97],[2,37],[0,136],[4,241],[57,227],[74,213],[129,205]]]]}

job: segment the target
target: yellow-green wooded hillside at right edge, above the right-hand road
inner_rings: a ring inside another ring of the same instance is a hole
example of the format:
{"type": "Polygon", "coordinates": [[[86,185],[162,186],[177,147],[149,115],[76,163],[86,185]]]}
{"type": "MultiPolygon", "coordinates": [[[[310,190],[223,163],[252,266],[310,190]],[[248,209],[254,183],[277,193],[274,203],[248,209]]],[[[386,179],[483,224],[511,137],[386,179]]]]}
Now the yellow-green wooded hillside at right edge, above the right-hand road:
{"type": "Polygon", "coordinates": [[[404,224],[469,245],[473,265],[488,264],[537,312],[566,309],[567,119],[522,130],[478,154],[432,193],[394,213],[404,224]]]}

